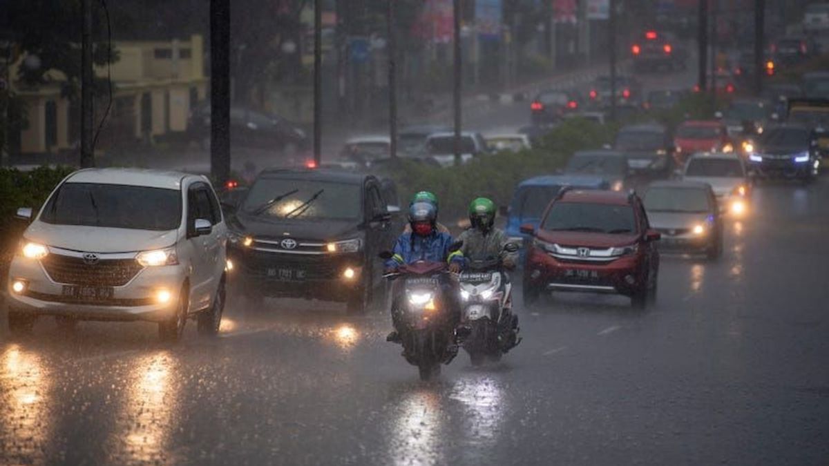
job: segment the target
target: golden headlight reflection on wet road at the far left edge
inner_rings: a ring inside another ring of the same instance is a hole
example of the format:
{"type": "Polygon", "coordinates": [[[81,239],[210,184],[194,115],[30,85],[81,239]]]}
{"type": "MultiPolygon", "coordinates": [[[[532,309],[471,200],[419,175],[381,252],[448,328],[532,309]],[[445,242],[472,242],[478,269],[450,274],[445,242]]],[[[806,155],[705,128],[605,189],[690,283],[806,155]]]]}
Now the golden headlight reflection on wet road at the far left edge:
{"type": "Polygon", "coordinates": [[[50,375],[39,355],[16,344],[0,360],[0,464],[40,463],[51,430],[50,375]]]}

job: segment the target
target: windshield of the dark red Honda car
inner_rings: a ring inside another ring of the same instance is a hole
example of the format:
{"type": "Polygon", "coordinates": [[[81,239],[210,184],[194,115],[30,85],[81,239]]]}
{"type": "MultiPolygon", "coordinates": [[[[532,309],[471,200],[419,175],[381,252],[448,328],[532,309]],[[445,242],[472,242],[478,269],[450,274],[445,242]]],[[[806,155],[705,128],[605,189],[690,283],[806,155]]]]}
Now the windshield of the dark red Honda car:
{"type": "Polygon", "coordinates": [[[636,232],[636,217],[631,206],[589,202],[556,202],[541,226],[549,231],[589,231],[594,233],[636,232]]]}

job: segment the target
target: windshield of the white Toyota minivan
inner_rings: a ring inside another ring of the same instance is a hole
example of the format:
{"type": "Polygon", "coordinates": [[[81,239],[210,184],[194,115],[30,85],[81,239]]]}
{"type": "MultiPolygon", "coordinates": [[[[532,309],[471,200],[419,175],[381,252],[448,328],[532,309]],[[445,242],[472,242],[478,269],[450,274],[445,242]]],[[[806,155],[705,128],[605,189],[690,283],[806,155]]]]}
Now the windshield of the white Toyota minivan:
{"type": "Polygon", "coordinates": [[[182,223],[182,193],[160,187],[66,182],[46,202],[40,220],[53,225],[170,231],[182,223]]]}

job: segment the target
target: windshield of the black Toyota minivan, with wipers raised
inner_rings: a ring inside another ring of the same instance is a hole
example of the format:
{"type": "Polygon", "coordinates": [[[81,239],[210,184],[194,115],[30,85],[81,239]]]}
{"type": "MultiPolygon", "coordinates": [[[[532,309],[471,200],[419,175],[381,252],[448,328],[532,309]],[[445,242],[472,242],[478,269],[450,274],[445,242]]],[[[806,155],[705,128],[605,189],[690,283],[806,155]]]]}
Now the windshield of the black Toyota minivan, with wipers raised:
{"type": "Polygon", "coordinates": [[[302,220],[354,220],[360,217],[362,211],[361,186],[344,182],[262,177],[250,187],[242,211],[252,215],[302,220]]]}

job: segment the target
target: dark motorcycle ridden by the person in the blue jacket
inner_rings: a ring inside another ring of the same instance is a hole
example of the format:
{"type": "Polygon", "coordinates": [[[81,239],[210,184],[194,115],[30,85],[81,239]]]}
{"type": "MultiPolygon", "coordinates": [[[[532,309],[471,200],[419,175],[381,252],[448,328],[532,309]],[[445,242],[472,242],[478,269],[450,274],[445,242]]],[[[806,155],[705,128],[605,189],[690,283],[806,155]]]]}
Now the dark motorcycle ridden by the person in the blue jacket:
{"type": "MultiPolygon", "coordinates": [[[[383,259],[390,257],[390,253],[381,253],[383,259]]],[[[420,260],[400,265],[384,277],[396,282],[391,312],[403,357],[418,367],[421,380],[439,376],[441,364],[452,362],[458,355],[453,317],[457,284],[447,264],[420,260]]]]}

